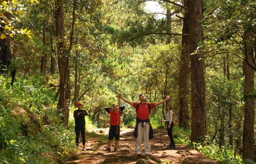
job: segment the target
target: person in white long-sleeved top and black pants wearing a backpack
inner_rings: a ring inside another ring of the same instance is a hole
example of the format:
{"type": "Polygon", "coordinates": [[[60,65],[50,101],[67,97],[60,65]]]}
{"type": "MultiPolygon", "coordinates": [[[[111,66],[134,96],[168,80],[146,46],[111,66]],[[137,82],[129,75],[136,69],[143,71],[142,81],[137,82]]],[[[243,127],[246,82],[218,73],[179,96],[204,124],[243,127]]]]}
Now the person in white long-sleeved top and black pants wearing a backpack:
{"type": "Polygon", "coordinates": [[[166,120],[161,120],[161,122],[166,122],[167,123],[167,132],[168,136],[170,137],[170,145],[167,147],[168,149],[173,149],[176,148],[174,140],[173,140],[173,111],[172,111],[172,104],[168,103],[166,104],[166,115],[165,118],[166,120]]]}

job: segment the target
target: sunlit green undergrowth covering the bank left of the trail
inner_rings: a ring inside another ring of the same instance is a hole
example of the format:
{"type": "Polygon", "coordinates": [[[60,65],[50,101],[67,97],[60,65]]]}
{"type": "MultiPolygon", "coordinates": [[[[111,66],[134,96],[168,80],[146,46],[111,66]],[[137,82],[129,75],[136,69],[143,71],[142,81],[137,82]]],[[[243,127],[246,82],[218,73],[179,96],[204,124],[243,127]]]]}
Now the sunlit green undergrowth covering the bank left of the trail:
{"type": "Polygon", "coordinates": [[[0,76],[0,161],[50,164],[56,163],[56,155],[65,160],[74,150],[75,133],[60,123],[54,92],[35,76],[19,78],[13,86],[9,81],[0,76]],[[38,119],[41,133],[23,109],[29,104],[27,110],[38,119]],[[45,116],[50,125],[44,125],[45,116]]]}

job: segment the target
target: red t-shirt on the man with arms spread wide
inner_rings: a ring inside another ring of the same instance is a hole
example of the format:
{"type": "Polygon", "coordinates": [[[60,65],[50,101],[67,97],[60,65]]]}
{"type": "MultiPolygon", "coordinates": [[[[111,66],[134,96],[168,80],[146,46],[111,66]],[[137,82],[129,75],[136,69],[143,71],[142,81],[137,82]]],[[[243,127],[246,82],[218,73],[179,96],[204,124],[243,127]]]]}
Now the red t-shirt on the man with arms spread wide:
{"type": "MultiPolygon", "coordinates": [[[[137,108],[138,102],[133,102],[133,107],[136,109],[137,108]]],[[[145,102],[144,104],[139,105],[139,109],[137,110],[137,117],[142,119],[142,120],[147,120],[149,118],[149,114],[151,112],[151,109],[155,107],[155,103],[149,103],[150,105],[150,110],[148,110],[147,103],[145,102]]]]}

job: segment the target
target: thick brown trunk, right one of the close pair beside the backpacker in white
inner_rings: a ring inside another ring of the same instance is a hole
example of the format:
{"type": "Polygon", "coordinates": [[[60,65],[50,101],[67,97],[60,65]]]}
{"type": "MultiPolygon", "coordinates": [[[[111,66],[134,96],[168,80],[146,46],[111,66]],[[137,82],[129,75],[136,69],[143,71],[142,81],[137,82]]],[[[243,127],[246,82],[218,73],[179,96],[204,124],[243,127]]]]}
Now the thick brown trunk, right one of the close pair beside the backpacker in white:
{"type": "MultiPolygon", "coordinates": [[[[199,142],[203,136],[206,136],[206,84],[205,84],[205,68],[202,51],[195,50],[202,41],[203,31],[200,21],[203,18],[203,1],[202,0],[185,0],[185,7],[189,11],[185,11],[184,27],[188,31],[188,52],[191,54],[191,141],[199,142]],[[193,53],[193,54],[192,54],[193,53]]],[[[183,29],[182,29],[183,32],[183,29]]]]}

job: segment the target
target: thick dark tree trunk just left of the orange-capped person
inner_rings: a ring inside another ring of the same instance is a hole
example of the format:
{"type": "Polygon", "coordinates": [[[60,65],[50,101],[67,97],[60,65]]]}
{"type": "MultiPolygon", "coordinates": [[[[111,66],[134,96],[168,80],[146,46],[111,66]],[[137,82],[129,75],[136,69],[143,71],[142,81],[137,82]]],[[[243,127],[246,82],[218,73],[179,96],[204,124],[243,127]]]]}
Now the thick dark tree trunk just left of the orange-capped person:
{"type": "Polygon", "coordinates": [[[62,120],[68,126],[69,103],[70,103],[70,79],[69,79],[69,54],[65,48],[64,38],[64,5],[62,0],[55,1],[55,26],[58,66],[60,74],[60,95],[58,109],[63,114],[62,120]]]}

